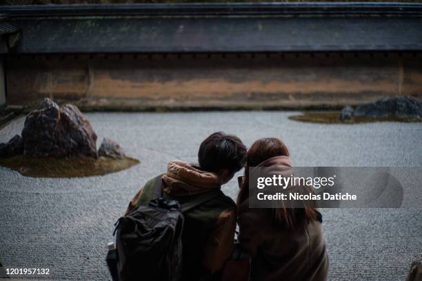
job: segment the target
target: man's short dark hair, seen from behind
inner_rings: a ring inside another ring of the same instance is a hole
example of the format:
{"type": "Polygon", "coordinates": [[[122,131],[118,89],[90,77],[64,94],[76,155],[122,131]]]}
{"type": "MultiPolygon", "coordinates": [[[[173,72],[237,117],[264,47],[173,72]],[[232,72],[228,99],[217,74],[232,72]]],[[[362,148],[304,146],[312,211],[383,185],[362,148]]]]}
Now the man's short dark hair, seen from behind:
{"type": "Polygon", "coordinates": [[[223,132],[211,134],[199,147],[199,167],[212,172],[220,169],[239,171],[245,165],[246,150],[237,136],[223,132]]]}

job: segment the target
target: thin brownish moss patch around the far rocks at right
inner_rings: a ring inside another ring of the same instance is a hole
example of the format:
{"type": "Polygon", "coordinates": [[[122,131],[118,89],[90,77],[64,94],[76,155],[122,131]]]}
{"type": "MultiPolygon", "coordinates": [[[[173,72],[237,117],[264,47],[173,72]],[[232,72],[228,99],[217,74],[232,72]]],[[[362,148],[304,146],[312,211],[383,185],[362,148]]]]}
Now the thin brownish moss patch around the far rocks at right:
{"type": "Polygon", "coordinates": [[[368,118],[368,117],[353,117],[349,121],[340,121],[339,112],[302,112],[301,115],[289,116],[290,120],[307,122],[307,123],[322,123],[322,124],[359,124],[372,122],[422,122],[418,118],[400,118],[400,117],[385,117],[385,118],[368,118]]]}

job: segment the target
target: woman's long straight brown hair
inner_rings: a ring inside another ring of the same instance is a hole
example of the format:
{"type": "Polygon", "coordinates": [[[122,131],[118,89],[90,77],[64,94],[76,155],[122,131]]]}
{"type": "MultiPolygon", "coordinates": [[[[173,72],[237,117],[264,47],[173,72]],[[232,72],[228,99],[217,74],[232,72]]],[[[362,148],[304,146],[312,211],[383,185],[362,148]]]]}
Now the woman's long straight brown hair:
{"type": "MultiPolygon", "coordinates": [[[[257,167],[263,161],[276,157],[289,156],[289,150],[278,138],[261,138],[255,141],[246,154],[245,178],[241,185],[237,203],[249,197],[249,167],[257,167]]],[[[314,208],[274,208],[271,209],[272,221],[277,227],[296,229],[316,219],[314,208]]]]}

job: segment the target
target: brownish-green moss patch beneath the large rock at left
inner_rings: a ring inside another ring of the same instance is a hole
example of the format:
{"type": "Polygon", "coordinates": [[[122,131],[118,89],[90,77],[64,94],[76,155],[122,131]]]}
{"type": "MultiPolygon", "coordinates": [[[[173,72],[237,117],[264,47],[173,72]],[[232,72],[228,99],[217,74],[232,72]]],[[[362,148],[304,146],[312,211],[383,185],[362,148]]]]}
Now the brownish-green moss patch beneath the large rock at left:
{"type": "Polygon", "coordinates": [[[0,166],[19,171],[22,176],[34,178],[75,178],[103,176],[128,169],[140,162],[134,158],[114,159],[99,157],[28,158],[22,155],[0,159],[0,166]]]}

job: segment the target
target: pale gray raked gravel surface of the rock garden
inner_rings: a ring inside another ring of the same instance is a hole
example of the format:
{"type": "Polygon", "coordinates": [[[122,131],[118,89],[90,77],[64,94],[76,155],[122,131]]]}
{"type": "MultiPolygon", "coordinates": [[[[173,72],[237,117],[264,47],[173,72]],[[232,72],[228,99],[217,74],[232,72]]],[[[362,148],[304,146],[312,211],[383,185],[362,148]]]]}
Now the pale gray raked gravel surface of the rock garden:
{"type": "MultiPolygon", "coordinates": [[[[281,138],[297,166],[422,166],[421,123],[317,125],[295,112],[86,114],[99,136],[120,143],[141,164],[89,178],[23,177],[0,167],[0,255],[7,267],[50,268],[54,280],[109,280],[105,263],[113,223],[134,193],[172,159],[195,161],[215,131],[250,145],[281,138]]],[[[0,131],[19,134],[23,118],[0,131]]],[[[237,183],[223,188],[236,196],[237,183]]],[[[422,256],[421,209],[324,209],[329,280],[404,280],[422,256]]]]}

